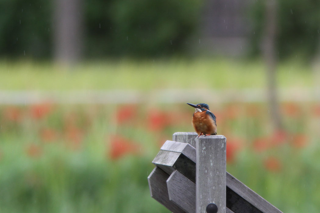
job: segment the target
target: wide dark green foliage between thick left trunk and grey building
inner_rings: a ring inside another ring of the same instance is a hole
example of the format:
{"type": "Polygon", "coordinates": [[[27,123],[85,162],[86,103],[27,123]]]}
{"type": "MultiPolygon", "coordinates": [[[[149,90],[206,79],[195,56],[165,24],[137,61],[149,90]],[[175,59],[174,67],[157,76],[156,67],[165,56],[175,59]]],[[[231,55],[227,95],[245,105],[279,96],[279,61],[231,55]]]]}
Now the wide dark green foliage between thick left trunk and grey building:
{"type": "Polygon", "coordinates": [[[87,52],[145,57],[181,52],[196,29],[200,6],[192,0],[88,1],[87,52]]]}

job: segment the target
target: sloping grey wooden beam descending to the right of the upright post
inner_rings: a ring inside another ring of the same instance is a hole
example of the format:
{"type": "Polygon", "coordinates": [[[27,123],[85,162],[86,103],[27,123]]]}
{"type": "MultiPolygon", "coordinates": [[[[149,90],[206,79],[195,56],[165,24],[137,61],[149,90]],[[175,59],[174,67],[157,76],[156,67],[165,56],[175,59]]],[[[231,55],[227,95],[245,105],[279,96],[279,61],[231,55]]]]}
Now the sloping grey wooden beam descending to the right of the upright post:
{"type": "MultiPolygon", "coordinates": [[[[245,202],[247,201],[248,203],[252,204],[252,206],[254,206],[256,209],[259,210],[258,211],[258,210],[255,210],[254,208],[251,208],[252,209],[251,212],[282,213],[282,211],[280,211],[271,203],[269,203],[267,200],[262,198],[259,194],[255,193],[248,186],[244,185],[240,180],[233,177],[230,173],[227,172],[226,178],[227,178],[227,191],[228,191],[228,188],[230,189],[229,192],[227,192],[227,196],[229,196],[230,202],[238,202],[239,204],[242,203],[243,206],[247,206],[247,208],[250,208],[250,205],[248,205],[245,202]],[[238,195],[239,197],[237,197],[236,195],[238,195]],[[245,201],[242,201],[240,197],[243,198],[245,201]]],[[[234,206],[230,206],[229,208],[234,212],[241,212],[241,205],[238,205],[236,208],[234,206]]]]}

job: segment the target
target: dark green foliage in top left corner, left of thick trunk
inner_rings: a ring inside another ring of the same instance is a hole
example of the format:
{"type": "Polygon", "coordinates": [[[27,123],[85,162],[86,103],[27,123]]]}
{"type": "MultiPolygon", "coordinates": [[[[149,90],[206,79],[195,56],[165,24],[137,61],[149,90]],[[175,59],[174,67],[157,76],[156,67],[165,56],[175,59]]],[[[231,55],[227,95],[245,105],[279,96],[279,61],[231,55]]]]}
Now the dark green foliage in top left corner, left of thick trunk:
{"type": "Polygon", "coordinates": [[[0,55],[51,55],[51,1],[0,1],[0,55]]]}

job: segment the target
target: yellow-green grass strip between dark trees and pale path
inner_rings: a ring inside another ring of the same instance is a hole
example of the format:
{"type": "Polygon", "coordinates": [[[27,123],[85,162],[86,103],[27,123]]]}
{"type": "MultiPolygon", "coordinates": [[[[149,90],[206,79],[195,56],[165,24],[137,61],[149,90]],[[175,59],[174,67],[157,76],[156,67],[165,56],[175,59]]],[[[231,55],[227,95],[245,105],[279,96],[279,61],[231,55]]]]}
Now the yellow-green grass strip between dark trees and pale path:
{"type": "MultiPolygon", "coordinates": [[[[263,88],[262,61],[171,59],[87,62],[71,67],[30,61],[0,62],[1,90],[72,90],[159,88],[263,88]]],[[[310,67],[297,61],[279,65],[281,87],[309,87],[310,67]]]]}

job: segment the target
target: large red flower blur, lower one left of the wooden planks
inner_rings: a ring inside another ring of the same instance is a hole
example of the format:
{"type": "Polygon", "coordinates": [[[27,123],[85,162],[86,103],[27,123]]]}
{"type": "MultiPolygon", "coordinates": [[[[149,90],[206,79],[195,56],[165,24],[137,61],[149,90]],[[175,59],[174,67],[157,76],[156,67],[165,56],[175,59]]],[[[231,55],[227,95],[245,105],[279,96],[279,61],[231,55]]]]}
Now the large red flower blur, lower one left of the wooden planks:
{"type": "Polygon", "coordinates": [[[118,159],[130,154],[139,154],[140,150],[140,144],[134,141],[126,139],[120,135],[111,136],[111,147],[109,150],[111,159],[118,159]]]}

